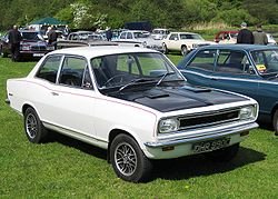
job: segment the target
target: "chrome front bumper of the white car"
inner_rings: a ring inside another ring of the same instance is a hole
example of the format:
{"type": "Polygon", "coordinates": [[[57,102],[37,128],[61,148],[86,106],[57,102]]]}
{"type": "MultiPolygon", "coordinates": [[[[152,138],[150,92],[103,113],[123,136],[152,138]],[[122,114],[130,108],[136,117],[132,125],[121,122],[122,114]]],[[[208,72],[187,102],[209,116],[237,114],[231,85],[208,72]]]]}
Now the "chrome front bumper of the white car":
{"type": "Polygon", "coordinates": [[[220,137],[227,137],[230,135],[240,133],[244,131],[249,131],[259,127],[258,123],[252,122],[248,125],[237,126],[234,128],[226,128],[218,131],[214,131],[211,135],[200,136],[200,137],[190,137],[190,138],[180,138],[175,140],[167,140],[167,141],[158,141],[158,142],[145,142],[143,145],[149,148],[161,148],[161,147],[170,147],[170,146],[178,146],[183,143],[197,142],[197,141],[205,141],[217,139],[220,137]]]}

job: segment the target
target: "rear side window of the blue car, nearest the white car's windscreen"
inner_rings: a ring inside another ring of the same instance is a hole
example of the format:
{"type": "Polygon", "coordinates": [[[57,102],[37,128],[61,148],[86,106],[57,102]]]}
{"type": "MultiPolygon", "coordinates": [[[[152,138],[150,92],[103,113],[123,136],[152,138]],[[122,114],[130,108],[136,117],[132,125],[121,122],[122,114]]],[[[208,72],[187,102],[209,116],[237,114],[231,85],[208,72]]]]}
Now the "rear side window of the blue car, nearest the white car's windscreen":
{"type": "Polygon", "coordinates": [[[188,68],[197,68],[202,70],[214,70],[216,50],[199,51],[195,59],[189,63],[188,68]]]}

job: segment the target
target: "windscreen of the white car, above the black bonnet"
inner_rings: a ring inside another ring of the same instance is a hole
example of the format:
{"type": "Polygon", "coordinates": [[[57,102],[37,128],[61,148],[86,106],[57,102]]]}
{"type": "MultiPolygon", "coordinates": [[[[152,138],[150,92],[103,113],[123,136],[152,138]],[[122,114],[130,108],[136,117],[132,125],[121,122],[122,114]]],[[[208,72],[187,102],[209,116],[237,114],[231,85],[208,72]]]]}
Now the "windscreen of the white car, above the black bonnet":
{"type": "Polygon", "coordinates": [[[171,76],[166,76],[163,82],[185,80],[160,53],[103,56],[91,59],[91,66],[100,89],[126,88],[126,84],[156,86],[166,73],[171,76]]]}

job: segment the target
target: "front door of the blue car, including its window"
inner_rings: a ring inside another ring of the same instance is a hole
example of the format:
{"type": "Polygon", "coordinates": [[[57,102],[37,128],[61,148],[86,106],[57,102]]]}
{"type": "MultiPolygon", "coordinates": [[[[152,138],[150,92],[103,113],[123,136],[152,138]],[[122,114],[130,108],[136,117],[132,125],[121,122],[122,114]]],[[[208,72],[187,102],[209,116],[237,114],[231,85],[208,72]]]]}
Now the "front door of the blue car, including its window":
{"type": "Polygon", "coordinates": [[[210,86],[258,99],[258,80],[245,51],[218,50],[210,86]]]}

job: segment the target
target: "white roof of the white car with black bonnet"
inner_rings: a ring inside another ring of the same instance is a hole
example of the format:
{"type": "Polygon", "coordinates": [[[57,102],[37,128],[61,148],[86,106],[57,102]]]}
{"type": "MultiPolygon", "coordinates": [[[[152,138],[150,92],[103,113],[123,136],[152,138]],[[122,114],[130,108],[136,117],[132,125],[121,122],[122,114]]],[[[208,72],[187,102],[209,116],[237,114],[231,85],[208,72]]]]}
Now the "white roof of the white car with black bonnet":
{"type": "Polygon", "coordinates": [[[115,53],[132,53],[132,52],[157,52],[151,49],[140,47],[121,47],[121,46],[93,46],[93,47],[76,47],[64,48],[49,52],[48,54],[72,54],[82,56],[88,59],[115,53]]]}

